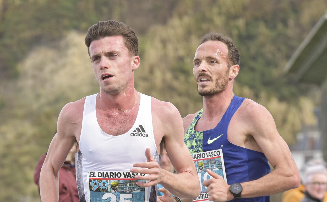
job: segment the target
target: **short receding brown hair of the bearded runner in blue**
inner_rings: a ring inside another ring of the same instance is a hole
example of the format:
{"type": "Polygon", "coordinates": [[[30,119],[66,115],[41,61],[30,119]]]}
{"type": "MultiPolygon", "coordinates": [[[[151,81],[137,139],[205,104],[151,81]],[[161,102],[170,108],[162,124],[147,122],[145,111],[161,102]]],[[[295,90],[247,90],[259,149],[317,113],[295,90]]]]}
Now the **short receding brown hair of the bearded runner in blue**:
{"type": "Polygon", "coordinates": [[[221,41],[228,47],[229,67],[240,64],[240,54],[233,43],[232,38],[217,32],[210,32],[202,37],[201,44],[207,41],[221,41]]]}

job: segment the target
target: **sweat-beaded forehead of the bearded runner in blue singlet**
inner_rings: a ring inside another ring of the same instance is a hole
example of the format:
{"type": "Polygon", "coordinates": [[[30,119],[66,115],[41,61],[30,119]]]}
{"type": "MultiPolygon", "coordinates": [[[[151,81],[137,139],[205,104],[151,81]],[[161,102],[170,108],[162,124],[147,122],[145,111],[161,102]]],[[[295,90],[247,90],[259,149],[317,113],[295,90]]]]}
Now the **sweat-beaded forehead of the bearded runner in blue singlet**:
{"type": "Polygon", "coordinates": [[[195,58],[200,55],[226,58],[228,47],[221,41],[207,41],[198,47],[195,58]]]}

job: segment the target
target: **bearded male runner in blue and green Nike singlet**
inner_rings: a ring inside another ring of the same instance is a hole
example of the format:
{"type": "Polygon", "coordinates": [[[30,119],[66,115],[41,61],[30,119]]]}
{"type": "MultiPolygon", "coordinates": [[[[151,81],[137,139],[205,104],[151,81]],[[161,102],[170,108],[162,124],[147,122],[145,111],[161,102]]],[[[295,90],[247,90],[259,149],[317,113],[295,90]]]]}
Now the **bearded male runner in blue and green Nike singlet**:
{"type": "Polygon", "coordinates": [[[298,187],[299,171],[270,113],[233,94],[240,67],[232,39],[206,34],[193,64],[203,108],[183,123],[202,184],[194,201],[268,202],[269,195],[298,187]]]}

